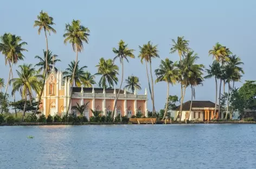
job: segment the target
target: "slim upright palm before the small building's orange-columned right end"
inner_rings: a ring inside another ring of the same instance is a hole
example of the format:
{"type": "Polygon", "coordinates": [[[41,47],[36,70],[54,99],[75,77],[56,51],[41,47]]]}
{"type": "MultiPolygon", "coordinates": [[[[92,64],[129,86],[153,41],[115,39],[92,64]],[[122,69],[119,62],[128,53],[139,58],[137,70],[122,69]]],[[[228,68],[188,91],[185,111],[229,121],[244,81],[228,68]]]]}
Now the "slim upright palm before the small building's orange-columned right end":
{"type": "MultiPolygon", "coordinates": [[[[210,79],[214,77],[215,79],[215,109],[214,109],[214,117],[216,115],[217,108],[217,79],[221,78],[221,66],[217,61],[213,61],[212,66],[209,66],[210,69],[206,69],[207,76],[204,76],[205,79],[210,79]]],[[[219,113],[220,113],[220,105],[219,105],[219,113]]]]}

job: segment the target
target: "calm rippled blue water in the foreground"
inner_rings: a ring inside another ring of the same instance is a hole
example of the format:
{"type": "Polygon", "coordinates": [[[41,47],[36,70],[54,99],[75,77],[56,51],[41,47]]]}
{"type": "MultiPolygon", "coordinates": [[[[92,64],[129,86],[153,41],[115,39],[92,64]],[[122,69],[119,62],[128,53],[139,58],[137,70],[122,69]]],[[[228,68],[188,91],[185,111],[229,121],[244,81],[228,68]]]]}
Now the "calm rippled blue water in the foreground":
{"type": "Polygon", "coordinates": [[[255,132],[242,124],[5,126],[0,168],[255,168],[255,132]]]}

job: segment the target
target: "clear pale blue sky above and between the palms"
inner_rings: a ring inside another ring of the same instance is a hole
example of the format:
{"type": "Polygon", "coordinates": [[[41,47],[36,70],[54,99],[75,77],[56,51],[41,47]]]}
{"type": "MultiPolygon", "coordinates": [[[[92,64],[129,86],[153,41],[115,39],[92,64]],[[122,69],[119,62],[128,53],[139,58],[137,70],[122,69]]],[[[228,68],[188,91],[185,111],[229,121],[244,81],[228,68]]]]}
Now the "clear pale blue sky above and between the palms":
{"type": "MultiPolygon", "coordinates": [[[[171,39],[176,40],[177,36],[184,36],[189,40],[189,47],[200,57],[197,63],[208,68],[213,62],[213,57],[208,55],[208,51],[216,42],[220,42],[245,63],[242,66],[245,75],[241,82],[235,84],[240,87],[245,80],[255,80],[255,5],[254,0],[10,0],[2,1],[0,5],[0,35],[10,32],[21,36],[23,41],[28,43],[25,47],[28,52],[24,52],[25,59],[18,64],[35,64],[38,60],[34,57],[43,56],[46,42],[43,34],[37,34],[38,28],[33,28],[33,24],[41,10],[48,12],[49,16],[54,18],[54,29],[57,31],[57,34],[48,36],[49,49],[61,59],[55,67],[65,70],[68,63],[75,59],[71,44],[63,43],[65,24],[79,19],[82,25],[91,30],[89,43],[85,44],[84,50],[79,53],[80,67],[87,66],[89,72],[97,73],[95,65],[99,59],[113,59],[115,55],[112,48],[117,48],[122,39],[129,48],[136,50],[136,59],[129,59],[129,63],[124,63],[124,77],[127,79],[127,76],[132,74],[139,77],[142,90],[138,91],[138,94],[144,94],[145,88],[148,87],[145,64],[141,64],[137,57],[138,46],[148,41],[158,45],[160,59],[152,61],[152,69],[155,70],[161,60],[167,57],[172,61],[179,59],[177,53],[170,54],[171,39]]],[[[120,63],[116,63],[120,67],[120,63]]],[[[7,82],[9,67],[5,66],[3,55],[0,56],[0,68],[0,77],[7,82]]],[[[153,78],[156,79],[156,76],[153,78]]],[[[99,81],[99,77],[96,81],[99,81]]],[[[118,87],[119,83],[116,88],[118,87]]],[[[154,87],[155,107],[159,111],[165,105],[167,84],[161,82],[154,87]]],[[[204,80],[203,86],[196,87],[195,90],[196,100],[215,100],[214,79],[204,80]]],[[[11,92],[10,87],[8,92],[11,92]]],[[[180,85],[171,86],[170,95],[180,97],[180,85]]],[[[191,91],[188,88],[184,101],[190,98],[191,91]]],[[[148,109],[152,109],[150,97],[148,109]]]]}

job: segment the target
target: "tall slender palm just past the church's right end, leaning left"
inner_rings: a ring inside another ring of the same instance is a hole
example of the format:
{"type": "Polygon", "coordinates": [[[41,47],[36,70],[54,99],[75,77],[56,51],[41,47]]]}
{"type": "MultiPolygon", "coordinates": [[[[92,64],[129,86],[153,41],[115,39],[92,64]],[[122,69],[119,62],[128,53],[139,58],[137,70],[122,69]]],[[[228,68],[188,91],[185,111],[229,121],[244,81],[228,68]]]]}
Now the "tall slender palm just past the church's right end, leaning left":
{"type": "Polygon", "coordinates": [[[143,60],[145,60],[145,63],[149,62],[149,66],[150,66],[152,91],[150,89],[150,82],[149,82],[149,74],[148,74],[147,64],[146,64],[146,73],[147,73],[147,76],[148,76],[149,89],[150,89],[152,106],[153,106],[153,113],[155,113],[156,110],[155,110],[154,87],[153,87],[153,76],[152,76],[151,63],[152,63],[153,58],[159,57],[158,50],[157,50],[157,45],[153,46],[153,44],[149,41],[147,44],[143,44],[143,47],[139,46],[139,49],[140,49],[140,54],[139,54],[138,57],[140,57],[140,61],[143,63],[143,60]]]}

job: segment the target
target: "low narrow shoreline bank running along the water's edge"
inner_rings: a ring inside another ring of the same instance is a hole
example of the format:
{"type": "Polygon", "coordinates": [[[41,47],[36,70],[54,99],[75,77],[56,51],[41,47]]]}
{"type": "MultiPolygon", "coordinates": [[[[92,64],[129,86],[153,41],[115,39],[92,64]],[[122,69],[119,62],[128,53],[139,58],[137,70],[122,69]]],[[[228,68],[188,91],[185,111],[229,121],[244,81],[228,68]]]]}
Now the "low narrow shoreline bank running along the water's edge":
{"type": "MultiPolygon", "coordinates": [[[[164,121],[157,121],[157,125],[165,125],[164,121]]],[[[82,123],[72,123],[72,122],[20,122],[15,124],[2,123],[0,126],[56,126],[56,125],[67,125],[67,126],[84,126],[84,125],[156,125],[152,123],[131,123],[131,122],[82,122],[82,123]]],[[[185,124],[184,121],[170,122],[168,121],[166,125],[175,124],[185,124]]],[[[188,121],[187,124],[256,124],[256,121],[188,121]]]]}

